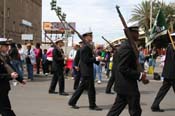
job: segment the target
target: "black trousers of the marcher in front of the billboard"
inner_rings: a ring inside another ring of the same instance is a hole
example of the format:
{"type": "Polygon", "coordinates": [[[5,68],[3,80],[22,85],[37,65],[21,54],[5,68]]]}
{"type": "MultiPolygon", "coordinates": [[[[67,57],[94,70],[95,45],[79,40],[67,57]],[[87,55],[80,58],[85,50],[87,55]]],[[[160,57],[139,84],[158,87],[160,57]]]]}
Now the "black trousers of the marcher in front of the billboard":
{"type": "Polygon", "coordinates": [[[55,91],[56,85],[59,83],[59,93],[64,92],[64,74],[63,72],[54,71],[49,91],[55,91]]]}

